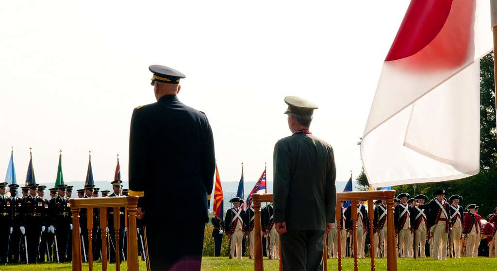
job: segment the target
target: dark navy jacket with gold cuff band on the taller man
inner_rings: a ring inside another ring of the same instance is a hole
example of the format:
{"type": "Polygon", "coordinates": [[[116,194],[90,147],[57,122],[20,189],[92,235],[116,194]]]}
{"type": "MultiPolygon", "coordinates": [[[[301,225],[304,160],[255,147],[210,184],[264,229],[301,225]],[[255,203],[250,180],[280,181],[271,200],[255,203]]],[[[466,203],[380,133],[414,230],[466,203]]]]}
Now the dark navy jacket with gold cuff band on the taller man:
{"type": "Polygon", "coordinates": [[[207,117],[175,95],[139,106],[131,118],[130,195],[143,196],[147,221],[209,221],[207,196],[214,185],[214,139],[207,117]],[[183,192],[181,192],[183,191],[183,192]],[[187,194],[185,194],[187,193],[187,194]],[[150,214],[150,215],[148,215],[150,214]]]}

